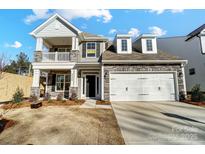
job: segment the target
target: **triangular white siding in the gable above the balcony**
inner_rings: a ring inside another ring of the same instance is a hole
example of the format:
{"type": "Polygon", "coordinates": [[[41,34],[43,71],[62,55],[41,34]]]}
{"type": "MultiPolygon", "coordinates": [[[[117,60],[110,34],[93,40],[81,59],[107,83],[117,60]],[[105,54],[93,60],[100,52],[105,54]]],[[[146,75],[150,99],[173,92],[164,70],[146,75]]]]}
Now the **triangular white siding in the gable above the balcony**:
{"type": "Polygon", "coordinates": [[[76,36],[72,28],[65,26],[65,24],[58,18],[53,22],[49,23],[44,29],[40,30],[37,37],[67,37],[76,36]]]}

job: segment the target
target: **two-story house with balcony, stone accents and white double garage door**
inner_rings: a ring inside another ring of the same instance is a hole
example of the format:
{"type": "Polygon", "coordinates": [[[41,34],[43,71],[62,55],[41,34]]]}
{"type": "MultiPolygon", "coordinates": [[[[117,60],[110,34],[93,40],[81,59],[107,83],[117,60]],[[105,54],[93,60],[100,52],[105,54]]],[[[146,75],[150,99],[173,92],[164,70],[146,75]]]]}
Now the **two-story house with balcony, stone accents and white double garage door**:
{"type": "Polygon", "coordinates": [[[37,27],[32,94],[39,95],[41,74],[53,98],[156,101],[179,99],[186,89],[186,60],[157,49],[156,36],[107,38],[80,31],[55,14],[37,27]],[[43,46],[48,48],[43,52],[43,46]],[[46,75],[45,75],[46,74],[46,75]]]}

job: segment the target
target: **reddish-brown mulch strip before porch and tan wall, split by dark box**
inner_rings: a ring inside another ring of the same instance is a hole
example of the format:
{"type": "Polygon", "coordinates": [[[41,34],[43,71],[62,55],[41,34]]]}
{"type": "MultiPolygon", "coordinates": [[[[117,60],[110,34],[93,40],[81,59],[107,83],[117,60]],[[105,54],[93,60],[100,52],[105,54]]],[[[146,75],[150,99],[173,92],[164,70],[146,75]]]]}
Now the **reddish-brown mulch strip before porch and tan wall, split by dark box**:
{"type": "MultiPolygon", "coordinates": [[[[57,100],[49,100],[49,101],[42,101],[42,106],[73,106],[73,105],[82,105],[85,102],[85,100],[62,100],[62,101],[57,101],[57,100]]],[[[4,110],[9,110],[9,109],[18,109],[22,107],[30,107],[31,102],[21,102],[21,103],[7,103],[1,106],[4,110]]]]}

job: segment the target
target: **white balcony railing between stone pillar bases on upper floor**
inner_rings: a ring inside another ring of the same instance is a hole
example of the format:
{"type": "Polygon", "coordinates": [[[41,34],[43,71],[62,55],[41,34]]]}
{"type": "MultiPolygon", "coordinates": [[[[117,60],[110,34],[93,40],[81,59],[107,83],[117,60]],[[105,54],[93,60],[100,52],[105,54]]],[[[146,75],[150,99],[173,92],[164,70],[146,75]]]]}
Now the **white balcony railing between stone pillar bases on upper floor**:
{"type": "Polygon", "coordinates": [[[42,62],[70,61],[69,52],[42,52],[42,62]]]}

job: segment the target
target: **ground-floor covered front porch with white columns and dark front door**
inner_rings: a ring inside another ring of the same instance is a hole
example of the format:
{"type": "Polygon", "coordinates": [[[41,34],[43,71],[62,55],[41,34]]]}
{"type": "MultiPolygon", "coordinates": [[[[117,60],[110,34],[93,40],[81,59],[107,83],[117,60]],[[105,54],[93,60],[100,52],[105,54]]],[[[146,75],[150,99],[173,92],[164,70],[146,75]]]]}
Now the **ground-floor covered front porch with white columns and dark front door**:
{"type": "Polygon", "coordinates": [[[62,66],[57,69],[57,65],[56,69],[33,66],[32,95],[42,98],[49,95],[51,99],[57,99],[58,95],[64,99],[102,99],[103,81],[99,66],[68,68],[66,65],[64,69],[62,66]]]}

